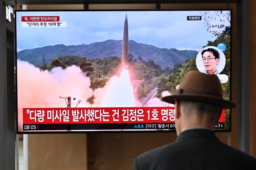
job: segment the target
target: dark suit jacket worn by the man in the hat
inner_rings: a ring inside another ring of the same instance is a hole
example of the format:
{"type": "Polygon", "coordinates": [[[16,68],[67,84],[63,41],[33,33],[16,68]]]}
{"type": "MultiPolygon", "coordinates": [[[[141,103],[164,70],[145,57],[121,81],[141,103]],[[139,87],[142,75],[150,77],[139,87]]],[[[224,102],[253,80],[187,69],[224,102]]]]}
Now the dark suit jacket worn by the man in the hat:
{"type": "Polygon", "coordinates": [[[139,155],[134,170],[256,170],[256,159],[227,146],[213,131],[183,131],[175,142],[139,155]]]}

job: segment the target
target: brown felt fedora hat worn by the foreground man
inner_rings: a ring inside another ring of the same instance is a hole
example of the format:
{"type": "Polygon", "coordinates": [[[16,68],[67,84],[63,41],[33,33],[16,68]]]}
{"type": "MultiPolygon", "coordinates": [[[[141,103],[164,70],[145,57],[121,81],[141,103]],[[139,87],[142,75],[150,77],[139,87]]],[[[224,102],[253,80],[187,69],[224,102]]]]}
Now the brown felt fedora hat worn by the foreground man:
{"type": "Polygon", "coordinates": [[[162,98],[163,101],[175,104],[174,99],[204,101],[218,104],[222,108],[233,108],[236,105],[222,98],[222,87],[217,75],[203,74],[199,71],[189,71],[180,82],[179,89],[170,96],[162,98]]]}

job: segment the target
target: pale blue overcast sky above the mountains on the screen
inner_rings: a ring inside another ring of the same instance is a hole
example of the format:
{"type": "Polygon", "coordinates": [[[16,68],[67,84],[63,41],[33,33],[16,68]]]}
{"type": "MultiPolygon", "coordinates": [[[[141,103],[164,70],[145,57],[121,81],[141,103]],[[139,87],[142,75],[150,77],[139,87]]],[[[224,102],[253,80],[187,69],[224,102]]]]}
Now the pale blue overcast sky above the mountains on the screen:
{"type": "Polygon", "coordinates": [[[187,21],[187,16],[200,16],[199,11],[22,11],[16,14],[17,51],[56,44],[122,40],[126,13],[129,40],[138,43],[159,48],[200,50],[208,41],[216,39],[207,32],[203,18],[201,21],[187,21]],[[67,27],[21,27],[21,16],[60,16],[60,21],[67,21],[67,27]]]}

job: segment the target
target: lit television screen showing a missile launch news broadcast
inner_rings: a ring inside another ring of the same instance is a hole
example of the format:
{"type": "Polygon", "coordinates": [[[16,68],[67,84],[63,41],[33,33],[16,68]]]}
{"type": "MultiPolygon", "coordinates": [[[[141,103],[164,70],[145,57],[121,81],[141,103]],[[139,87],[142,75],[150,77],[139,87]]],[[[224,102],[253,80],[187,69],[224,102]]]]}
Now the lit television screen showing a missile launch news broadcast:
{"type": "MultiPolygon", "coordinates": [[[[175,132],[174,105],[161,98],[189,70],[217,74],[230,100],[230,10],[16,11],[15,20],[17,133],[175,132]],[[218,59],[204,59],[209,50],[218,59]]],[[[230,131],[230,110],[214,129],[230,131]]]]}

